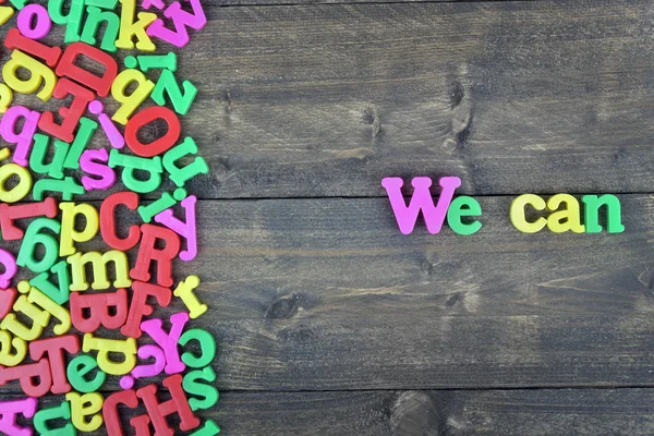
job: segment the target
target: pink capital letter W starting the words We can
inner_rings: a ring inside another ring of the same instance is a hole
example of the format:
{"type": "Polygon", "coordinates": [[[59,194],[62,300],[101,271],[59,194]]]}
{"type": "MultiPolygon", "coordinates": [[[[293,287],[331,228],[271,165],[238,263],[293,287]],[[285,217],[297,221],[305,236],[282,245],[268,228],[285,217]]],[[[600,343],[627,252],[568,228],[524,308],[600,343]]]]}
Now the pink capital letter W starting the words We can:
{"type": "Polygon", "coordinates": [[[427,231],[432,234],[438,233],[447,216],[447,209],[455,196],[455,190],[461,186],[461,179],[458,177],[440,178],[438,184],[440,184],[443,191],[436,206],[434,206],[434,199],[429,192],[432,179],[414,178],[411,181],[413,195],[411,196],[409,206],[407,206],[402,196],[401,189],[403,184],[404,182],[400,178],[385,178],[382,180],[382,186],[388,193],[388,198],[390,199],[390,205],[392,206],[400,231],[403,234],[411,233],[413,227],[415,227],[417,214],[422,210],[425,223],[427,225],[427,231]]]}

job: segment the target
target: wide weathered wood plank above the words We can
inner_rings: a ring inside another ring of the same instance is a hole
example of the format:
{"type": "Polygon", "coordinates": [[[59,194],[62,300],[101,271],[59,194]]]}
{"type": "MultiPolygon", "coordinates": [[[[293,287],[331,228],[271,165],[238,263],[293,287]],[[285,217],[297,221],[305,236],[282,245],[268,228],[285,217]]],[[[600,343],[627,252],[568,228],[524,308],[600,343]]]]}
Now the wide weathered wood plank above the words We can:
{"type": "Polygon", "coordinates": [[[180,52],[199,88],[183,132],[211,168],[189,189],[379,196],[387,175],[451,173],[469,194],[652,192],[653,14],[644,0],[209,7],[180,52]]]}

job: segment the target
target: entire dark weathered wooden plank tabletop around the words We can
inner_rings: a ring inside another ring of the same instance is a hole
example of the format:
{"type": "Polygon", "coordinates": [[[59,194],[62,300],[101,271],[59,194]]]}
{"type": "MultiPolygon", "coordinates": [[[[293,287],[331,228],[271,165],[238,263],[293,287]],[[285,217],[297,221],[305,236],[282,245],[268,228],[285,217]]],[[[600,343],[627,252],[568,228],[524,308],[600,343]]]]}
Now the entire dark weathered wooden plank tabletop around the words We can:
{"type": "MultiPolygon", "coordinates": [[[[654,434],[654,4],[205,2],[196,272],[226,435],[654,434]],[[384,177],[458,175],[472,237],[384,177]],[[523,234],[521,193],[621,234],[523,234]]],[[[111,389],[111,387],[110,387],[111,389]]]]}

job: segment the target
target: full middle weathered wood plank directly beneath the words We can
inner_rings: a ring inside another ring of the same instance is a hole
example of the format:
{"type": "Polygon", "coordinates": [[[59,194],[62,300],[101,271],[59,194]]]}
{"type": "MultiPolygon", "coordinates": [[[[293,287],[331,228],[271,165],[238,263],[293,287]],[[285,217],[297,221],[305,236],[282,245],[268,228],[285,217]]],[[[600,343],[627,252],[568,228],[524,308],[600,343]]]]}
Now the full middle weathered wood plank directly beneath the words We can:
{"type": "Polygon", "coordinates": [[[175,270],[221,389],[651,386],[654,197],[621,198],[625,233],[526,235],[483,197],[469,238],[402,235],[378,198],[201,202],[175,270]]]}

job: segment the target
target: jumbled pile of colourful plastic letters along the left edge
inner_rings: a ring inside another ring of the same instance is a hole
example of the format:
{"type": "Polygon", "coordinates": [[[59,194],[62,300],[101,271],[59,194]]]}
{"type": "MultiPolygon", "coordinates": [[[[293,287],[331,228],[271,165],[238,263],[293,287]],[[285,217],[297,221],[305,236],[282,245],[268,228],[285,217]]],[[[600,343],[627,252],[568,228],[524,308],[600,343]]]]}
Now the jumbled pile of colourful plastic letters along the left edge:
{"type": "Polygon", "coordinates": [[[75,435],[105,426],[122,435],[122,410],[141,404],[145,413],[130,420],[136,434],[172,435],[167,416],[177,414],[179,431],[216,435],[220,428],[196,414],[218,401],[215,339],[192,327],[207,305],[197,276],[175,286],[173,274],[198,250],[197,198],[187,182],[208,166],[180,121],[197,88],[175,75],[174,52],[152,55],[155,44],[183,48],[207,19],[199,0],[63,3],[0,7],[0,25],[14,15],[16,23],[4,33],[0,70],[0,137],[9,144],[0,149],[0,241],[20,241],[15,252],[0,247],[0,387],[17,384],[27,396],[0,401],[0,432],[75,435]],[[62,47],[44,43],[53,25],[65,27],[62,47]],[[121,64],[119,49],[147,55],[121,64]],[[12,105],[16,94],[60,105],[37,111],[12,105]],[[154,123],[166,133],[144,142],[141,132],[154,123]],[[157,193],[168,180],[173,189],[157,193]],[[109,190],[99,203],[81,199],[109,190]],[[141,223],[124,228],[129,221],[141,223]],[[88,250],[98,239],[106,246],[88,250]],[[158,317],[173,299],[185,311],[158,317]],[[138,343],[144,334],[152,343],[138,343]],[[98,390],[110,377],[123,390],[105,398],[98,390]],[[64,400],[39,408],[47,395],[64,400]]]}

